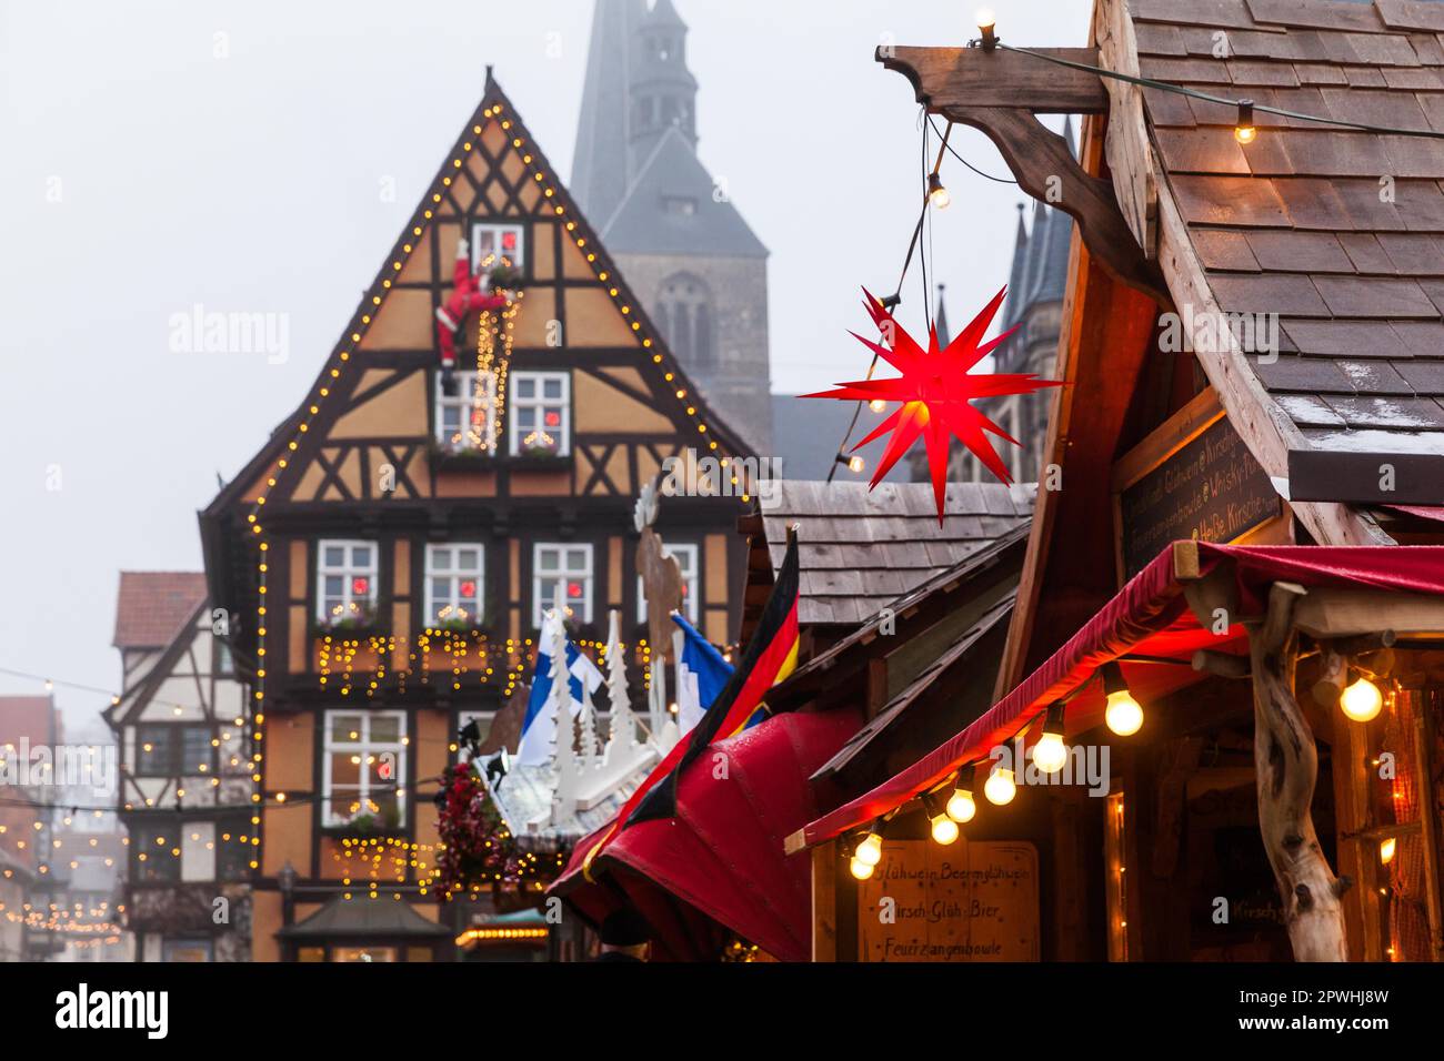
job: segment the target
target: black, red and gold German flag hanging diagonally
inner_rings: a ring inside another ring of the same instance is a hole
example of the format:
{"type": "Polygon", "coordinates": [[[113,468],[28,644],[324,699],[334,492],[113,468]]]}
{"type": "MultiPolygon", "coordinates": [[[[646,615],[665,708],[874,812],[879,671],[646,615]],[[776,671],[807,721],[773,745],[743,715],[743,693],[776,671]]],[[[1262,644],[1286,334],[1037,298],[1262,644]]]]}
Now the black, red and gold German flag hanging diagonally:
{"type": "Polygon", "coordinates": [[[713,741],[747,728],[761,707],[767,690],[786,678],[797,667],[797,530],[787,531],[787,554],[777,572],[777,582],[752,639],[742,654],[716,700],[684,741],[658,762],[641,782],[627,804],[618,811],[612,827],[586,853],[583,866],[591,868],[602,849],[624,829],[638,821],[676,817],[677,780],[713,741]]]}

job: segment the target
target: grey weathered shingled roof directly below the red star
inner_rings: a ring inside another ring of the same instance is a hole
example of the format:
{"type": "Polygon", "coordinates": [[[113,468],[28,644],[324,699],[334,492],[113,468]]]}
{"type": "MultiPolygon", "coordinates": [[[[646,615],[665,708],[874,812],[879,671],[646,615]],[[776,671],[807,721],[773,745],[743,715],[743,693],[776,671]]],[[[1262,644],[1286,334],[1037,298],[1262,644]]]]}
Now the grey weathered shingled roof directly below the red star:
{"type": "Polygon", "coordinates": [[[858,624],[992,544],[1032,515],[1032,484],[950,482],[943,525],[926,482],[783,479],[761,505],[773,570],[799,524],[799,619],[858,624]]]}

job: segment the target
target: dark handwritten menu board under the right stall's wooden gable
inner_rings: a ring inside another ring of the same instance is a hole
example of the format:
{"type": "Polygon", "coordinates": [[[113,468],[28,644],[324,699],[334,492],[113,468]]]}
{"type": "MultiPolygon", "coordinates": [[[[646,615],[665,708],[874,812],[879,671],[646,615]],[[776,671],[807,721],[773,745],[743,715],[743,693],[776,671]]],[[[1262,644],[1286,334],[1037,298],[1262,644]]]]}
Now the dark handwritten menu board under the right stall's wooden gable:
{"type": "Polygon", "coordinates": [[[1118,462],[1113,492],[1125,579],[1171,541],[1238,541],[1284,511],[1213,391],[1200,394],[1118,462]]]}

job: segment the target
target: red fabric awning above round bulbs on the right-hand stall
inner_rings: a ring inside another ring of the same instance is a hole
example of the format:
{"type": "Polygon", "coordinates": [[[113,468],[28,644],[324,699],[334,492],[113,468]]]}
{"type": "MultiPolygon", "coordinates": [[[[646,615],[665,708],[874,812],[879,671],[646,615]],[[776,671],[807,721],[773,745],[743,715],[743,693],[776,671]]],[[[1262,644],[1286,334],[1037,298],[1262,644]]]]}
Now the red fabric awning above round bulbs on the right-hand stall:
{"type": "MultiPolygon", "coordinates": [[[[1121,661],[1134,696],[1148,703],[1203,678],[1187,665],[1199,648],[1246,651],[1245,629],[1235,619],[1225,634],[1199,625],[1184,598],[1187,580],[1175,570],[1175,551],[1197,547],[1201,577],[1225,560],[1233,562],[1243,618],[1259,615],[1274,582],[1310,586],[1354,586],[1393,592],[1444,595],[1444,546],[1212,546],[1178,543],[1165,549],[1108,605],[1024,678],[1008,696],[960,733],[872,791],[810,821],[807,844],[872,821],[913,797],[939,785],[959,767],[986,758],[989,749],[1011,741],[1048,704],[1079,690],[1105,663],[1121,661]],[[1151,657],[1139,660],[1136,657],[1151,657]]],[[[1191,563],[1191,559],[1190,559],[1191,563]]],[[[1100,689],[1080,691],[1066,709],[1069,733],[1086,732],[1102,722],[1100,689]]]]}

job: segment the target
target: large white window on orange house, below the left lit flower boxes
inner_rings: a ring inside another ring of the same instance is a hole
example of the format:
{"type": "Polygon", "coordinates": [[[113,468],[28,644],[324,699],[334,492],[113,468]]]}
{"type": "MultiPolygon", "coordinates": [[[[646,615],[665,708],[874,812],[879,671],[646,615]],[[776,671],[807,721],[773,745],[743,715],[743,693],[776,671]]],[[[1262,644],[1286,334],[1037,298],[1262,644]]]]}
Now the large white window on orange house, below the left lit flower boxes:
{"type": "Polygon", "coordinates": [[[406,817],[406,713],[326,712],[325,824],[400,829],[406,817]]]}

